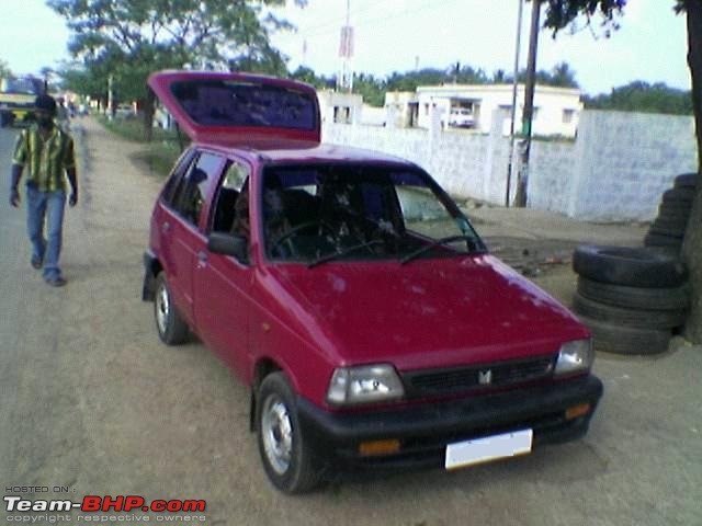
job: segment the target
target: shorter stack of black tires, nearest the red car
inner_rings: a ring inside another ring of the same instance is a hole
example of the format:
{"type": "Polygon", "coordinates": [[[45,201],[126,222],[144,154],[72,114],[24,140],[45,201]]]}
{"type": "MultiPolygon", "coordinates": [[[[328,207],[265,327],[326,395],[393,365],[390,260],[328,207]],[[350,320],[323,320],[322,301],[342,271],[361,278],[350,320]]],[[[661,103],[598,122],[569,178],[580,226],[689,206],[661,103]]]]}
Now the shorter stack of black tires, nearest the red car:
{"type": "Polygon", "coordinates": [[[677,255],[652,248],[578,247],[573,309],[592,332],[595,347],[619,354],[668,348],[684,323],[688,274],[677,255]]]}

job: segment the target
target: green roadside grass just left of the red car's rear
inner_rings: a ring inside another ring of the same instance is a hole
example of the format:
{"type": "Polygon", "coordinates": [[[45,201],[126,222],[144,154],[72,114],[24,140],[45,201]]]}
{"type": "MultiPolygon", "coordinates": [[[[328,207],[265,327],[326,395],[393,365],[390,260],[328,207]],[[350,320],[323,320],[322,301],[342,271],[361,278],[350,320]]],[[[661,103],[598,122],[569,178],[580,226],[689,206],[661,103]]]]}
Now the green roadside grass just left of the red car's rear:
{"type": "MultiPolygon", "coordinates": [[[[138,118],[114,118],[107,119],[99,116],[100,124],[113,134],[134,141],[141,142],[144,150],[132,156],[132,160],[146,168],[149,173],[166,176],[170,173],[176,160],[180,157],[181,146],[178,134],[173,129],[154,128],[151,141],[146,140],[144,123],[138,118]]],[[[182,137],[183,148],[190,144],[188,137],[182,137]]]]}

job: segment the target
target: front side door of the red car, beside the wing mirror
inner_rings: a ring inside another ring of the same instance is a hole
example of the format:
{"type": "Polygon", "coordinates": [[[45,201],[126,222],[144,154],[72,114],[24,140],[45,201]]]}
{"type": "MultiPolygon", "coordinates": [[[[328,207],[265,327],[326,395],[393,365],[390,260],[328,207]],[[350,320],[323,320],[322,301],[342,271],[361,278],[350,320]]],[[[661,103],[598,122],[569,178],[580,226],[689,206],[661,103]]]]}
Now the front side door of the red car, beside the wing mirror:
{"type": "MultiPolygon", "coordinates": [[[[250,167],[242,161],[227,161],[213,197],[207,232],[231,232],[235,206],[239,213],[248,214],[245,205],[250,198],[250,167]],[[237,199],[245,202],[237,203],[237,199]]],[[[208,251],[204,255],[194,276],[195,320],[200,334],[223,362],[245,377],[249,320],[253,308],[250,258],[239,261],[208,251]]]]}

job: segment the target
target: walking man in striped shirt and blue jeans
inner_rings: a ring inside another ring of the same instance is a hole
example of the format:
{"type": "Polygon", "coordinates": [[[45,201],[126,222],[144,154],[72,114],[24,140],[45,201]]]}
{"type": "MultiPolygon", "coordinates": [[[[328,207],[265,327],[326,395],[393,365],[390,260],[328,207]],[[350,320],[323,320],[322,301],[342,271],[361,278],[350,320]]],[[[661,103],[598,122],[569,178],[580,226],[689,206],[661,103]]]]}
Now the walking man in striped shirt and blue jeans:
{"type": "Polygon", "coordinates": [[[22,130],[12,159],[10,204],[20,206],[19,184],[22,171],[26,176],[26,226],[32,242],[32,266],[44,267],[44,281],[54,286],[66,285],[58,266],[61,251],[66,179],[70,183],[68,204],[78,202],[73,139],[54,123],[56,101],[39,95],[35,101],[36,124],[22,130]],[[46,239],[44,224],[46,222],[46,239]]]}

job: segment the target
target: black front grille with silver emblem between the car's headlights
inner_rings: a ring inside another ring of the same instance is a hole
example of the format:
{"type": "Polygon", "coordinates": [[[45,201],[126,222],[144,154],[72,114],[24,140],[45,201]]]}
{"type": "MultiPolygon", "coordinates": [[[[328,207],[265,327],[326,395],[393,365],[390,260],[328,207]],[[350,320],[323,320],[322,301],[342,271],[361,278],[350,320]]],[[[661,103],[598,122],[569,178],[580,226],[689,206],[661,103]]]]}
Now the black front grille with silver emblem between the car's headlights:
{"type": "Polygon", "coordinates": [[[453,395],[540,380],[552,375],[555,356],[403,374],[409,398],[453,395]]]}

